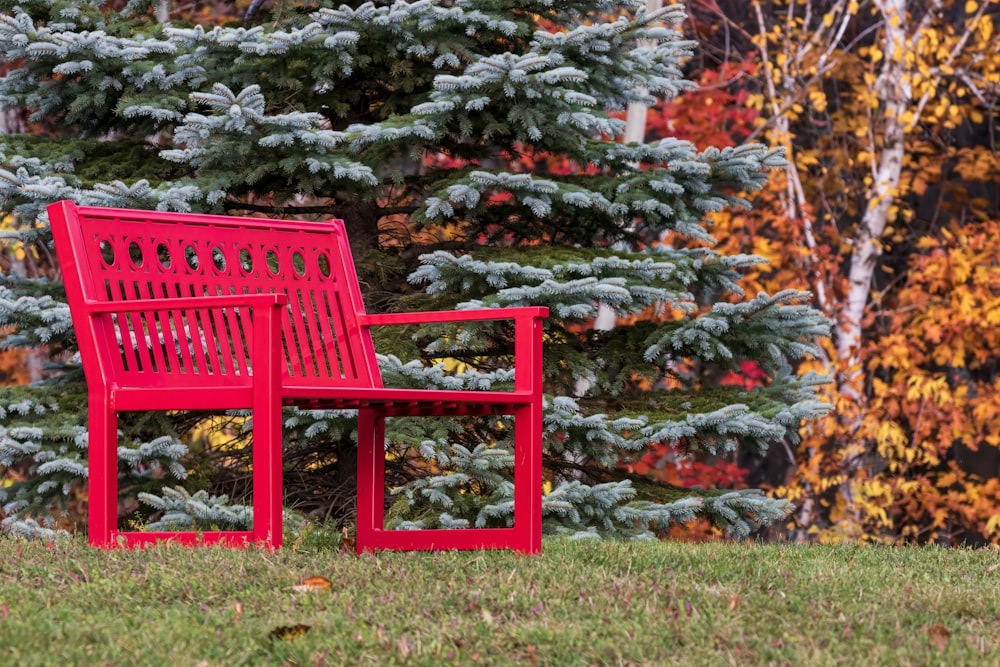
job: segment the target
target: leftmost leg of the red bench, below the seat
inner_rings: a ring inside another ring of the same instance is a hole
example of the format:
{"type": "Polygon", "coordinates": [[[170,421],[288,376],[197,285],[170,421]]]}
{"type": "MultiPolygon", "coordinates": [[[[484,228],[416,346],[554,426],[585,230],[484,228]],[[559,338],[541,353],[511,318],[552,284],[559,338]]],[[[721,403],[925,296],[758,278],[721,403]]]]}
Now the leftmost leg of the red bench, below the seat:
{"type": "Polygon", "coordinates": [[[87,539],[107,549],[118,529],[118,414],[103,394],[91,394],[88,410],[87,539]]]}

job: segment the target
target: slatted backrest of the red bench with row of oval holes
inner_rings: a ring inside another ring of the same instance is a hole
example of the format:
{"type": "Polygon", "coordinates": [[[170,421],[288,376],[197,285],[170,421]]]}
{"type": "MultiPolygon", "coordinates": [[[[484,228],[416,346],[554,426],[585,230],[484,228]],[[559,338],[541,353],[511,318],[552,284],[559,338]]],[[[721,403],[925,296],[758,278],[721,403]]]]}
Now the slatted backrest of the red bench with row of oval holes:
{"type": "Polygon", "coordinates": [[[49,207],[84,372],[118,386],[245,386],[250,315],[216,308],[90,317],[88,302],[288,295],[286,385],[380,387],[343,221],[49,207]],[[118,339],[124,341],[119,345],[118,339]]]}

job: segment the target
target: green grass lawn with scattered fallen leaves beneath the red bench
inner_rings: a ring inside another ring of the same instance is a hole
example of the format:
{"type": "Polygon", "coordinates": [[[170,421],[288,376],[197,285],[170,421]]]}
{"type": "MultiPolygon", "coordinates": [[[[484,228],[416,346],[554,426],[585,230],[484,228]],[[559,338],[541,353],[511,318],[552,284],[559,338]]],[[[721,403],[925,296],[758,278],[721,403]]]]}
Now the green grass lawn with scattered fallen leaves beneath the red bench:
{"type": "Polygon", "coordinates": [[[547,541],[275,553],[0,540],[10,665],[1000,664],[1000,554],[547,541]],[[297,592],[310,576],[332,591],[297,592]],[[310,626],[282,638],[281,627],[310,626]]]}

